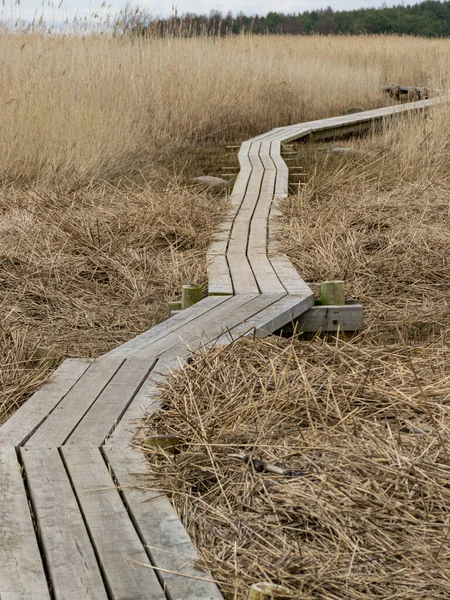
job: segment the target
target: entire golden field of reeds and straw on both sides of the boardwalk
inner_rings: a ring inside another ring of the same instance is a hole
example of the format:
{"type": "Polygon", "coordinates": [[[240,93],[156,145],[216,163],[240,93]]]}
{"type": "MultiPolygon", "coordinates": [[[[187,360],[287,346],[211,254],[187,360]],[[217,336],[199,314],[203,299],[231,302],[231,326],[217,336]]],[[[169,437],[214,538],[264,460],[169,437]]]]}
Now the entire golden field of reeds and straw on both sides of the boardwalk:
{"type": "MultiPolygon", "coordinates": [[[[450,41],[395,36],[2,33],[0,421],[63,357],[97,356],[164,319],[183,283],[206,286],[226,197],[190,180],[220,173],[227,144],[391,103],[383,84],[447,88],[449,64],[450,41]]],[[[366,330],[198,355],[144,423],[184,443],[149,454],[149,485],[227,599],[267,579],[311,600],[449,597],[449,131],[443,107],[299,145],[309,175],[280,243],[313,289],[345,279],[366,330]],[[243,451],[297,475],[230,457],[243,451]]]]}

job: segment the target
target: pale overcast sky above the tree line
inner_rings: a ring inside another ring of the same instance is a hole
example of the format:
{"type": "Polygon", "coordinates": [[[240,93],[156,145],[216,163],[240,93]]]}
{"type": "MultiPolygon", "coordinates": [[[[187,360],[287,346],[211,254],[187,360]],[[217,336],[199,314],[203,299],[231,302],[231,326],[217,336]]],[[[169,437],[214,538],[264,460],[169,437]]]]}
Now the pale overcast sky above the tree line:
{"type": "MultiPolygon", "coordinates": [[[[59,0],[56,0],[56,5],[59,0]]],[[[101,9],[102,12],[109,10],[109,12],[116,12],[123,8],[126,4],[123,0],[110,0],[109,2],[103,2],[103,0],[63,0],[62,8],[57,11],[56,8],[48,8],[51,0],[20,0],[20,6],[17,4],[17,0],[0,0],[0,7],[4,2],[4,8],[0,8],[0,14],[4,18],[5,16],[14,15],[14,17],[21,16],[22,18],[32,18],[35,11],[37,10],[41,14],[45,10],[45,17],[47,20],[56,19],[60,20],[61,12],[69,18],[72,18],[75,14],[85,16],[89,13],[95,13],[101,9]],[[45,8],[42,8],[43,5],[45,8]],[[56,16],[56,15],[59,15],[56,16]]],[[[400,0],[392,1],[388,0],[386,4],[392,6],[392,4],[399,4],[400,0]]],[[[409,2],[408,2],[409,3],[409,2]]],[[[210,10],[221,10],[228,12],[231,10],[236,13],[242,10],[245,14],[259,14],[263,15],[269,11],[277,12],[302,12],[305,10],[314,10],[319,8],[326,8],[331,6],[336,10],[342,9],[354,9],[362,7],[373,7],[381,6],[383,0],[136,0],[132,1],[131,4],[145,7],[149,9],[155,16],[168,16],[172,12],[172,4],[178,9],[178,14],[185,12],[195,13],[208,13],[210,10]]]]}

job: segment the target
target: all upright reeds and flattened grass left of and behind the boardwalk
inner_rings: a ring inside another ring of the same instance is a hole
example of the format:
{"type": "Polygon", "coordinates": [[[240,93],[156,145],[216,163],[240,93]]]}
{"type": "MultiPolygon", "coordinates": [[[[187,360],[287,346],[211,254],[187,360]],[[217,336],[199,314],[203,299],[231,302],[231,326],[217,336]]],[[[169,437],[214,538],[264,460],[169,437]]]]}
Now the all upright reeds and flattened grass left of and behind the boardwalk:
{"type": "Polygon", "coordinates": [[[205,281],[221,207],[180,184],[220,174],[213,145],[379,105],[386,81],[439,86],[449,57],[445,40],[32,30],[0,35],[0,420],[48,373],[36,344],[96,355],[205,281]]]}

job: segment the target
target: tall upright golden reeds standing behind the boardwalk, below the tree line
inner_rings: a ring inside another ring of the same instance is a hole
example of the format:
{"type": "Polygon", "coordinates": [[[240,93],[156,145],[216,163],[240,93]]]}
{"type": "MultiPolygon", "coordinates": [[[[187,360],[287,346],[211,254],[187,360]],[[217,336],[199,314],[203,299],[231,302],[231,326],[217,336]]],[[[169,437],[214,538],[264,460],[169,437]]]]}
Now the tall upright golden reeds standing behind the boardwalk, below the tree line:
{"type": "Polygon", "coordinates": [[[165,167],[190,143],[242,140],[385,102],[391,81],[441,86],[447,40],[113,39],[1,35],[4,181],[92,180],[165,167]]]}

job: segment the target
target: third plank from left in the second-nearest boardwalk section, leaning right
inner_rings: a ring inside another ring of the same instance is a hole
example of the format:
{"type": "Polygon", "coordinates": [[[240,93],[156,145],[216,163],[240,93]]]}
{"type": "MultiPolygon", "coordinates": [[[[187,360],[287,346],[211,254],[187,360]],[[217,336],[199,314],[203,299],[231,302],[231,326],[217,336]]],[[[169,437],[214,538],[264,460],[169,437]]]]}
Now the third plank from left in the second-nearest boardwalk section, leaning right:
{"type": "Polygon", "coordinates": [[[79,422],[66,444],[99,447],[120,421],[155,365],[153,358],[127,359],[79,422]]]}

